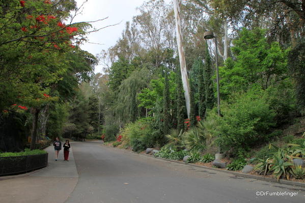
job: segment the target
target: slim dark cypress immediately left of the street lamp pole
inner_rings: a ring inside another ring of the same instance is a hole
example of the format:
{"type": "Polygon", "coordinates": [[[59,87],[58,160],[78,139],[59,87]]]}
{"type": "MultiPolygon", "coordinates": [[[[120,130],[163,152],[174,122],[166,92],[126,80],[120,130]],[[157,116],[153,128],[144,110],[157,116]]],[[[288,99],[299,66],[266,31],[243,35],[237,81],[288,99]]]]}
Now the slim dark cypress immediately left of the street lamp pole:
{"type": "Polygon", "coordinates": [[[205,103],[206,109],[212,109],[214,106],[214,91],[212,82],[212,60],[209,53],[208,45],[206,44],[205,52],[205,64],[204,64],[204,87],[205,87],[205,103]]]}

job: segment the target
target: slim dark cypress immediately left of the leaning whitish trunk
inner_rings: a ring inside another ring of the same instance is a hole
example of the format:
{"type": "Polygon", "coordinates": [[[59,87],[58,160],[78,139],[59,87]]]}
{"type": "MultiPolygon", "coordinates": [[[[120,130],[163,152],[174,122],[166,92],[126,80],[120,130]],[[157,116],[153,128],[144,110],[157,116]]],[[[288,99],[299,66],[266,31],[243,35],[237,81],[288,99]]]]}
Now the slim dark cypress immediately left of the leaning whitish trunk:
{"type": "Polygon", "coordinates": [[[184,102],[184,94],[183,94],[183,86],[182,86],[182,79],[180,73],[180,67],[177,67],[177,74],[176,74],[176,83],[177,83],[177,130],[178,132],[181,129],[184,130],[184,113],[185,113],[185,102],[184,102]]]}

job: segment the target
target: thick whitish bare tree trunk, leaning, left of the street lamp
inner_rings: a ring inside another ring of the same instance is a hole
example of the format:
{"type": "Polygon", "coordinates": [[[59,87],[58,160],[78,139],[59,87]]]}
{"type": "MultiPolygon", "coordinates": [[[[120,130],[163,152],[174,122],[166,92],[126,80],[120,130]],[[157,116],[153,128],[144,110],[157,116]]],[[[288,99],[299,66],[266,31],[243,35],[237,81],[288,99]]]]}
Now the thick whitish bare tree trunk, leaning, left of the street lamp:
{"type": "Polygon", "coordinates": [[[179,0],[173,0],[173,4],[174,4],[175,19],[176,19],[176,40],[177,40],[177,45],[178,45],[178,53],[179,53],[180,68],[181,68],[181,77],[182,77],[182,83],[183,83],[187,117],[189,118],[189,112],[190,112],[189,92],[190,91],[189,91],[188,77],[187,77],[187,71],[186,71],[184,48],[183,48],[183,43],[182,43],[179,0]]]}

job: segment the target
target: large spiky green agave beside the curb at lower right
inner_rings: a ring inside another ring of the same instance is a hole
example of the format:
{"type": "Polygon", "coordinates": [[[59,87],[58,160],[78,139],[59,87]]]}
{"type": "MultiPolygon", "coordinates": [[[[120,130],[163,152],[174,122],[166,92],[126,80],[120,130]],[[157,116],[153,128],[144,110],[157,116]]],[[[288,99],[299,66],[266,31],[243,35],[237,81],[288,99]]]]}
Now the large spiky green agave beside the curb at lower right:
{"type": "MultiPolygon", "coordinates": [[[[284,152],[285,153],[285,152],[284,152]]],[[[285,158],[283,158],[283,150],[279,150],[278,154],[273,156],[273,162],[270,171],[273,171],[273,175],[276,177],[276,180],[280,180],[282,176],[286,177],[289,180],[291,172],[291,168],[293,166],[292,159],[289,159],[286,162],[285,158]]]]}

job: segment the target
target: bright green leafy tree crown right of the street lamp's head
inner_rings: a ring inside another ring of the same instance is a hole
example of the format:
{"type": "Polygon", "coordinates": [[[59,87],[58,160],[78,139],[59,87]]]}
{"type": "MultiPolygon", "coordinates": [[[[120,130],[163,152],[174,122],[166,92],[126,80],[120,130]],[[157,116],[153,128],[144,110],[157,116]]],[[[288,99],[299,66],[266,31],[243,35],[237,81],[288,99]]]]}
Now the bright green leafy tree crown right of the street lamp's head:
{"type": "Polygon", "coordinates": [[[288,77],[287,51],[277,42],[269,45],[264,30],[242,28],[233,44],[236,61],[229,58],[219,69],[221,98],[227,99],[232,92],[247,91],[254,85],[267,89],[288,77]]]}

